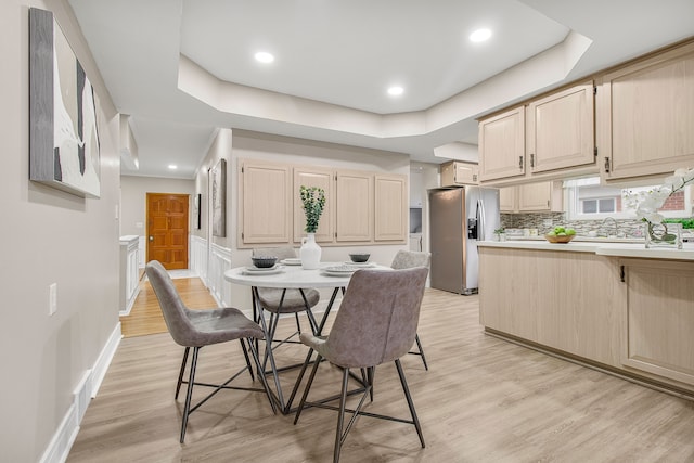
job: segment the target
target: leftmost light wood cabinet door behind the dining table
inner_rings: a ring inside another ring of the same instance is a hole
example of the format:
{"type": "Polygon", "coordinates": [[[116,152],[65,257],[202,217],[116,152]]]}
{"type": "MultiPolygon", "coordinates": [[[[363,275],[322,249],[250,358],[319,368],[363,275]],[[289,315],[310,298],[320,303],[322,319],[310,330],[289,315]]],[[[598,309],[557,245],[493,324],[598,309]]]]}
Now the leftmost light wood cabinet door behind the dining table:
{"type": "Polygon", "coordinates": [[[292,168],[286,165],[240,163],[239,242],[244,244],[292,241],[292,168]]]}

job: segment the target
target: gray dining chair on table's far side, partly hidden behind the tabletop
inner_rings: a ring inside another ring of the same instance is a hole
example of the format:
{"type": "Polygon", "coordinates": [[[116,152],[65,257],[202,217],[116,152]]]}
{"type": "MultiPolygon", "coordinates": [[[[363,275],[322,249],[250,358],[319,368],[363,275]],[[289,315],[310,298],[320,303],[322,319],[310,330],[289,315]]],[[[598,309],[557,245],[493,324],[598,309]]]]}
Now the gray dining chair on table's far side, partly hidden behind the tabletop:
{"type": "MultiPolygon", "coordinates": [[[[294,250],[294,248],[291,246],[253,249],[253,257],[268,256],[277,257],[279,262],[284,259],[296,258],[296,250],[294,250]]],[[[256,313],[256,321],[262,324],[264,329],[268,333],[268,346],[282,345],[284,343],[298,343],[297,340],[292,340],[292,338],[295,335],[301,333],[301,323],[298,317],[299,312],[306,312],[311,331],[313,333],[318,332],[318,324],[316,322],[316,318],[313,317],[313,312],[311,311],[311,308],[316,307],[321,297],[318,290],[258,287],[254,290],[254,296],[257,303],[260,305],[261,309],[257,311],[258,313],[256,313]],[[262,311],[268,311],[270,313],[270,319],[267,321],[267,324],[265,317],[262,317],[262,311]],[[284,339],[275,339],[274,333],[278,327],[278,322],[280,321],[280,316],[287,313],[294,313],[294,318],[296,319],[296,331],[284,339]]],[[[277,362],[274,360],[274,355],[272,353],[272,347],[268,347],[265,350],[262,359],[264,371],[267,368],[268,360],[270,361],[270,372],[273,375],[275,388],[278,390],[280,407],[284,407],[284,397],[282,394],[282,388],[280,387],[280,378],[278,376],[278,372],[283,369],[297,365],[290,365],[278,369],[277,362]]]]}

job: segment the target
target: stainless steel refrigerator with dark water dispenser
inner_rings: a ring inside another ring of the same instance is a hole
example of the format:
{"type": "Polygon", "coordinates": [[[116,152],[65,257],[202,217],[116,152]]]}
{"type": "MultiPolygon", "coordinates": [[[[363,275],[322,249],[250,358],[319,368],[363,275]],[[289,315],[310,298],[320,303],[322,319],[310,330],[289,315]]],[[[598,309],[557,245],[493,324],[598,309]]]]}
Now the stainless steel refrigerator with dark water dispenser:
{"type": "Polygon", "coordinates": [[[428,190],[430,285],[458,294],[477,292],[477,241],[500,227],[499,190],[479,187],[428,190]]]}

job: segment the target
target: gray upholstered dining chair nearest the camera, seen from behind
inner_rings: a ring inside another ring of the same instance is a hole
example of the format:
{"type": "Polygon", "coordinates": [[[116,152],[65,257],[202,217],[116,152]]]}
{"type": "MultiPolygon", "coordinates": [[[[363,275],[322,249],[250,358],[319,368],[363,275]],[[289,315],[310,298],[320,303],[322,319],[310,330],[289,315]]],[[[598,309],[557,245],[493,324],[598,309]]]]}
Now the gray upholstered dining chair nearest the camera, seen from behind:
{"type": "Polygon", "coordinates": [[[343,442],[359,415],[412,424],[424,448],[422,427],[400,364],[400,357],[406,355],[414,343],[427,273],[428,270],[423,267],[403,270],[358,270],[347,286],[330,334],[316,336],[301,333],[299,336],[301,343],[310,349],[297,384],[304,377],[313,351],[318,357],[304,389],[294,424],[298,422],[301,410],[307,404],[337,410],[334,462],[339,460],[343,442]],[[339,407],[327,406],[325,401],[307,402],[306,400],[322,359],[343,369],[339,407]],[[368,396],[373,400],[372,389],[376,365],[390,361],[395,361],[412,420],[367,413],[361,410],[368,396]],[[363,396],[355,410],[347,409],[345,403],[350,369],[367,370],[367,374],[362,374],[363,396]],[[345,412],[352,414],[346,427],[344,427],[345,412]],[[343,429],[345,429],[344,433],[343,429]]]}

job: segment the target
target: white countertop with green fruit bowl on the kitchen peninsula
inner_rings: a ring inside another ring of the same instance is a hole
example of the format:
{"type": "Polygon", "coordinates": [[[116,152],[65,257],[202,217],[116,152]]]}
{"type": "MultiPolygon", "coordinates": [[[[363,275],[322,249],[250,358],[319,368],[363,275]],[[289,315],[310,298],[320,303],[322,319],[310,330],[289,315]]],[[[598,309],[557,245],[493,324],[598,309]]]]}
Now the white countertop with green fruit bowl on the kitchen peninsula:
{"type": "Polygon", "coordinates": [[[574,253],[593,253],[601,256],[639,257],[646,259],[694,260],[694,243],[684,243],[682,249],[664,247],[646,249],[643,243],[600,243],[588,241],[550,243],[544,240],[478,241],[477,246],[506,247],[513,249],[569,250],[574,253]]]}

